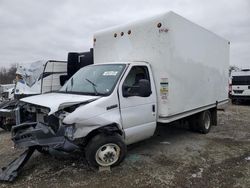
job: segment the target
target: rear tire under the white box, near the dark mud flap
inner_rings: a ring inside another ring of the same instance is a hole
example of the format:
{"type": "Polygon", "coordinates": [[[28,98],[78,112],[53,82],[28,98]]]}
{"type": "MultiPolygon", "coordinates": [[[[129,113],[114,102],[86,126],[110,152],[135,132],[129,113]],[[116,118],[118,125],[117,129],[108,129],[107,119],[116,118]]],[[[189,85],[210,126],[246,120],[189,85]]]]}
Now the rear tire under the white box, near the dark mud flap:
{"type": "Polygon", "coordinates": [[[210,111],[200,113],[198,118],[198,127],[201,133],[207,134],[212,126],[212,117],[210,111]]]}

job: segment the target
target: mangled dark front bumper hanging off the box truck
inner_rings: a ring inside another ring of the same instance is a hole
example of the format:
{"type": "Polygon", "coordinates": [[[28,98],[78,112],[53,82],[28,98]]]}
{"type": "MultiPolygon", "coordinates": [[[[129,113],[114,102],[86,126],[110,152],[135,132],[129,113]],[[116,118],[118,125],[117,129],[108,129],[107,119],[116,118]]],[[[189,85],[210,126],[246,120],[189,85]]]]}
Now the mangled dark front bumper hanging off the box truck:
{"type": "Polygon", "coordinates": [[[22,123],[12,127],[12,140],[16,147],[49,147],[64,152],[78,150],[79,147],[65,135],[72,131],[72,126],[60,126],[54,130],[41,122],[22,123]]]}

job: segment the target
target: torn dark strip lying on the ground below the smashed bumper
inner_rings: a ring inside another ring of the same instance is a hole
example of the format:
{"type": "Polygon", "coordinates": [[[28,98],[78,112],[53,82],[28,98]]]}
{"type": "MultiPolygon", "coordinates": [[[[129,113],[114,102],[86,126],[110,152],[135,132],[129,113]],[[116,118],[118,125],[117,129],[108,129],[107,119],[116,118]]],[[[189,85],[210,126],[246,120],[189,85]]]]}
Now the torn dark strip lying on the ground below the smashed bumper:
{"type": "Polygon", "coordinates": [[[34,153],[34,148],[29,148],[18,158],[14,159],[7,167],[3,167],[0,172],[0,181],[12,182],[18,176],[19,171],[34,153]]]}

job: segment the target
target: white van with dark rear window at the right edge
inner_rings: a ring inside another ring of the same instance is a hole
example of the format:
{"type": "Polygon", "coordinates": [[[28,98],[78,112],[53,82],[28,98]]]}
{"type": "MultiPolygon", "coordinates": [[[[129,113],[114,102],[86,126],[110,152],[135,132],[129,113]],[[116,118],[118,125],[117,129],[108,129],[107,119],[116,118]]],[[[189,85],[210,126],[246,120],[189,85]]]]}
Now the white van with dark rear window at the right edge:
{"type": "Polygon", "coordinates": [[[231,73],[232,103],[250,100],[250,69],[242,69],[231,73]]]}

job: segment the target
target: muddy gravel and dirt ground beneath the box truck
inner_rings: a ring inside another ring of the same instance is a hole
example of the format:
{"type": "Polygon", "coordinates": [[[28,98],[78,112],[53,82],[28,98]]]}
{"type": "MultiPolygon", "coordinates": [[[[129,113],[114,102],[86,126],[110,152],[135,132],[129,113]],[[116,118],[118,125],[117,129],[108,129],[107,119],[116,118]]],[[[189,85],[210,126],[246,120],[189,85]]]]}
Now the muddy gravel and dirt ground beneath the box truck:
{"type": "MultiPolygon", "coordinates": [[[[14,183],[0,187],[250,187],[250,105],[230,105],[218,117],[207,135],[159,126],[153,138],[130,146],[111,172],[93,170],[79,156],[36,152],[14,183]]],[[[0,145],[5,166],[19,152],[2,130],[0,145]]]]}

